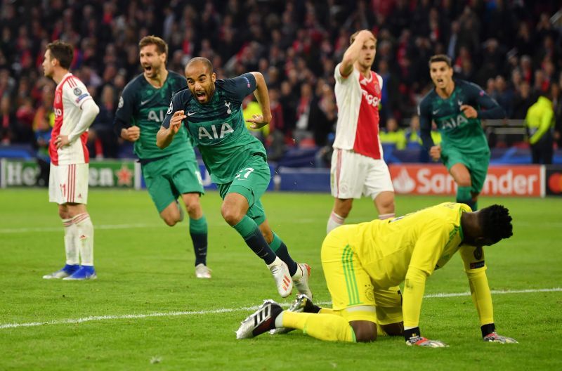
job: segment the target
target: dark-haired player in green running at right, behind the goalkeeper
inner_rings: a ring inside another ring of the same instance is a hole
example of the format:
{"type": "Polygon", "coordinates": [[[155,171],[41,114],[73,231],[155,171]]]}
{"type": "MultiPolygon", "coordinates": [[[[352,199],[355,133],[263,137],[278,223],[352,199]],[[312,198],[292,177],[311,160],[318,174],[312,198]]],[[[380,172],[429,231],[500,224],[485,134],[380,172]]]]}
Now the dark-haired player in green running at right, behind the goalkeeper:
{"type": "Polygon", "coordinates": [[[439,54],[429,59],[435,84],[419,103],[421,141],[434,161],[441,160],[457,183],[457,202],[478,209],[478,194],[488,174],[490,148],[481,119],[502,119],[505,112],[480,86],[452,78],[451,60],[439,54]],[[431,122],[442,141],[434,145],[431,122]]]}

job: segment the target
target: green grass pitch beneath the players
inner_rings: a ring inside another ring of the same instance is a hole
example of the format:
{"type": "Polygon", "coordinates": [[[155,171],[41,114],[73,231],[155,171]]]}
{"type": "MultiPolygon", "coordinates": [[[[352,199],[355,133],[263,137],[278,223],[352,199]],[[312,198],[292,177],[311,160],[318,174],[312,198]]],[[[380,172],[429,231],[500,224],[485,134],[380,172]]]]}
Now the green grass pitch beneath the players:
{"type": "MultiPolygon", "coordinates": [[[[239,341],[240,320],[277,296],[273,279],[221,219],[220,197],[202,198],[211,280],[197,280],[188,224],[159,219],[141,191],[91,190],[98,280],[41,278],[64,263],[63,228],[46,190],[0,190],[0,370],[544,370],[562,365],[562,200],[482,198],[514,216],[514,237],[486,248],[497,331],[519,344],[485,344],[458,256],[429,278],[421,330],[447,349],[403,339],[328,343],[298,332],[239,341]],[[558,288],[558,290],[556,290],[558,288]],[[555,289],[553,291],[540,291],[555,289]],[[528,292],[523,292],[528,290],[528,292]],[[82,320],[82,321],[79,321],[82,320]]],[[[396,198],[397,214],[451,200],[396,198]]],[[[329,294],[320,266],[332,198],[267,193],[273,230],[313,268],[315,301],[329,294]]],[[[348,223],[376,216],[355,202],[348,223]]]]}

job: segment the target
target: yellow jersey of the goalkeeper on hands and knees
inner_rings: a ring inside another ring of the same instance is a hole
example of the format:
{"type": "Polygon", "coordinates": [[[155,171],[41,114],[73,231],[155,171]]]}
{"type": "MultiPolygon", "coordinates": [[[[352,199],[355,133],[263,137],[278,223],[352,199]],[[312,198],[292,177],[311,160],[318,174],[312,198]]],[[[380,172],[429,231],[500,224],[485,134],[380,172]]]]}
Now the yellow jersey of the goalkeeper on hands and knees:
{"type": "Polygon", "coordinates": [[[461,215],[466,204],[445,202],[412,214],[374,220],[348,228],[350,247],[375,288],[400,284],[410,267],[431,275],[460,250],[466,273],[485,269],[481,248],[462,242],[461,215]]]}

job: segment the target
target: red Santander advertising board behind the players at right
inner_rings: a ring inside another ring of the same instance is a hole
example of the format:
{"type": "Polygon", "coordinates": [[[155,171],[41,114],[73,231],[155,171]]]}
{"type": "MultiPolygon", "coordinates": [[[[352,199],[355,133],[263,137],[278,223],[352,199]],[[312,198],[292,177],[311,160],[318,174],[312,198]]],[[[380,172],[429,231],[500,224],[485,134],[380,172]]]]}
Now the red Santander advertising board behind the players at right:
{"type": "MultiPolygon", "coordinates": [[[[411,195],[455,195],[457,184],[441,164],[388,165],[396,193],[411,195]]],[[[540,166],[493,166],[482,195],[542,196],[540,166]]]]}

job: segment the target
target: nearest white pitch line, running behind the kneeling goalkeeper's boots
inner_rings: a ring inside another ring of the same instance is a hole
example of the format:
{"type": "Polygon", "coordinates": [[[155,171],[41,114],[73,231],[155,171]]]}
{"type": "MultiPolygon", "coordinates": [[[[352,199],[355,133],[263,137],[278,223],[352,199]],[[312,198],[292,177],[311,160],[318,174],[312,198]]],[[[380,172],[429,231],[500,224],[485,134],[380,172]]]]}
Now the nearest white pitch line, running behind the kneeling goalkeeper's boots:
{"type": "MultiPolygon", "coordinates": [[[[552,289],[521,289],[521,290],[492,290],[492,294],[529,294],[534,292],[562,292],[562,287],[554,287],[552,289]]],[[[432,298],[446,298],[446,297],[469,297],[470,292],[441,292],[438,294],[428,294],[425,295],[425,299],[432,298]]],[[[323,301],[316,304],[327,305],[332,304],[329,301],[323,301]]],[[[289,306],[289,304],[281,304],[282,306],[289,306]]],[[[122,314],[122,315],[91,315],[84,318],[68,318],[66,320],[51,320],[46,322],[30,322],[30,323],[4,323],[0,325],[0,330],[15,328],[15,327],[37,327],[43,325],[63,325],[65,323],[84,323],[91,322],[95,320],[126,320],[131,318],[150,318],[150,317],[174,317],[178,315],[207,315],[207,314],[217,314],[217,313],[230,313],[230,312],[240,312],[240,311],[255,311],[259,306],[245,306],[242,308],[221,308],[212,309],[211,311],[174,311],[174,312],[160,312],[160,313],[148,313],[148,314],[122,314]]]]}

